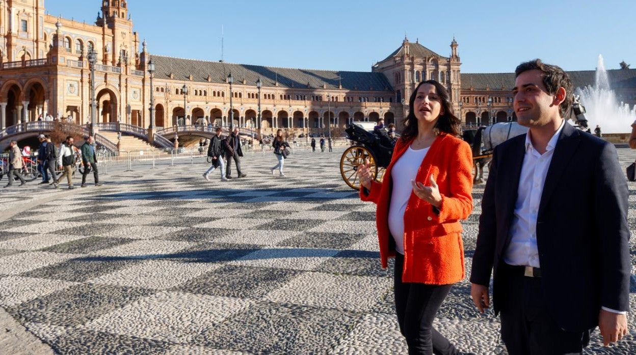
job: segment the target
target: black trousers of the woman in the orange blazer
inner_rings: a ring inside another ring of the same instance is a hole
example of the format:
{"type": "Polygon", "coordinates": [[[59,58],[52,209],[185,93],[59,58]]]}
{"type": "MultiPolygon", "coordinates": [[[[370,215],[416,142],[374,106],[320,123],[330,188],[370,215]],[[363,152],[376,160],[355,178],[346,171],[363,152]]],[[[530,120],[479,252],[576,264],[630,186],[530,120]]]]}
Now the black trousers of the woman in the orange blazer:
{"type": "Polygon", "coordinates": [[[403,283],[404,256],[397,253],[394,292],[397,323],[406,338],[409,354],[457,354],[457,350],[432,323],[453,285],[403,283]]]}

